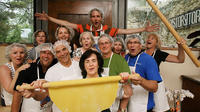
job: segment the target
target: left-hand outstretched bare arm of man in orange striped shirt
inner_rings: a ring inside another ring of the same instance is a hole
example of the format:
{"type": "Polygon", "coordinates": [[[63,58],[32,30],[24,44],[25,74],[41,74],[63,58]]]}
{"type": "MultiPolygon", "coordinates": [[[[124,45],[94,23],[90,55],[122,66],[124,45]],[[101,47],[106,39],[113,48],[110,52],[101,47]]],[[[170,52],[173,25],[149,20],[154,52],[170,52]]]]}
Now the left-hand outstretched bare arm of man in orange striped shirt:
{"type": "Polygon", "coordinates": [[[35,17],[37,17],[40,20],[50,20],[50,21],[52,21],[56,24],[68,26],[68,27],[71,27],[73,29],[77,29],[77,24],[71,23],[71,22],[66,21],[66,20],[53,18],[51,16],[48,16],[47,13],[45,13],[44,11],[42,13],[35,13],[35,17]]]}

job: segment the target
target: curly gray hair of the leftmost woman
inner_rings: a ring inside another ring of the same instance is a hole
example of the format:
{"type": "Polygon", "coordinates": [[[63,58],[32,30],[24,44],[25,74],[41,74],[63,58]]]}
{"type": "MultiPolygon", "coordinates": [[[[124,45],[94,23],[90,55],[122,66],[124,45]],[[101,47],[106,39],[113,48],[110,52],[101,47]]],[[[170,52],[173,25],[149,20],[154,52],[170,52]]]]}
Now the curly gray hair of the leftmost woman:
{"type": "Polygon", "coordinates": [[[5,58],[8,60],[8,61],[12,61],[11,58],[10,58],[10,54],[11,54],[11,50],[14,48],[14,47],[19,47],[19,48],[23,48],[24,49],[24,53],[25,53],[25,59],[26,60],[26,57],[27,57],[27,48],[26,48],[26,45],[25,44],[20,44],[20,43],[13,43],[9,46],[6,47],[5,49],[5,58]]]}

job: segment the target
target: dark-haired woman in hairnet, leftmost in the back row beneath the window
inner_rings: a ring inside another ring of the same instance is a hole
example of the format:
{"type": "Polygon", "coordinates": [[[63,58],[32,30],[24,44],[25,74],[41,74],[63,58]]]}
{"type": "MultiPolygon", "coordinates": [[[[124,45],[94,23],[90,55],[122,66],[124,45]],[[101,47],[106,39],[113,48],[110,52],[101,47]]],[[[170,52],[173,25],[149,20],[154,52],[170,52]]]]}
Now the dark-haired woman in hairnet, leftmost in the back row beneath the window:
{"type": "Polygon", "coordinates": [[[43,30],[37,30],[33,34],[33,45],[34,47],[28,51],[27,61],[31,63],[39,57],[39,53],[36,52],[38,45],[47,42],[47,33],[43,30]]]}

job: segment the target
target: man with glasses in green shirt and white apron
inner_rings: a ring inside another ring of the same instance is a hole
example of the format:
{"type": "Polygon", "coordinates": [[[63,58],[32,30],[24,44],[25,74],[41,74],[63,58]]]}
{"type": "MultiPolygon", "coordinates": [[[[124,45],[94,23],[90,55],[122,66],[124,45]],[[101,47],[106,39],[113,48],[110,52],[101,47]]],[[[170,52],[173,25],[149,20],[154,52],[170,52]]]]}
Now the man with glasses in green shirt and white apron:
{"type": "MultiPolygon", "coordinates": [[[[101,35],[98,39],[98,45],[104,59],[104,72],[102,73],[102,76],[116,76],[125,72],[130,73],[126,60],[122,56],[112,52],[113,39],[111,36],[107,34],[101,35]]],[[[110,108],[112,112],[116,112],[118,109],[118,112],[126,110],[128,99],[132,95],[132,89],[129,85],[124,85],[123,89],[124,95],[126,95],[127,98],[122,98],[121,102],[116,100],[115,105],[112,105],[110,108]]]]}

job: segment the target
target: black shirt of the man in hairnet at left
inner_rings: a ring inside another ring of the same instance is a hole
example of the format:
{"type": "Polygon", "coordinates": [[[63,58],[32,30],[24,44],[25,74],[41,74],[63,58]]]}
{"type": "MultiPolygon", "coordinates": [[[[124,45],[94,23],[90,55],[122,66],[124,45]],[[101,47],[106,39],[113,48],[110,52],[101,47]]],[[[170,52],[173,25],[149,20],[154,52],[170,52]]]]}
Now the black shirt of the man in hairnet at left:
{"type": "MultiPolygon", "coordinates": [[[[51,65],[48,68],[50,68],[51,66],[53,66],[57,62],[58,62],[57,59],[54,59],[53,62],[51,63],[51,65]]],[[[41,64],[39,62],[39,58],[38,58],[36,62],[30,64],[29,68],[19,72],[19,76],[18,76],[17,81],[15,83],[14,90],[16,90],[17,85],[22,85],[23,83],[30,84],[33,81],[37,80],[38,79],[37,67],[39,68],[39,78],[44,79],[45,73],[43,73],[42,66],[41,66],[41,64]]]]}

